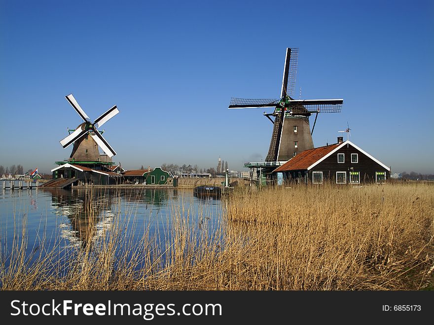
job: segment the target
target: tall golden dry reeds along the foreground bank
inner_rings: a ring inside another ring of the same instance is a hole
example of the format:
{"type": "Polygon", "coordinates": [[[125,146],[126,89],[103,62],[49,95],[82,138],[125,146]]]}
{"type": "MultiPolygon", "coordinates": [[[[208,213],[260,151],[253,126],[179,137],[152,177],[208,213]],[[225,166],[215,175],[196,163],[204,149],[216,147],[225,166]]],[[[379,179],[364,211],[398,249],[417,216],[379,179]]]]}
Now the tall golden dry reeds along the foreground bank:
{"type": "Polygon", "coordinates": [[[99,244],[57,262],[54,249],[28,263],[23,232],[11,254],[2,254],[11,266],[2,262],[1,288],[433,289],[432,184],[239,188],[225,206],[213,228],[206,209],[194,216],[189,202],[173,204],[165,231],[151,234],[145,226],[134,240],[125,228],[143,227],[135,211],[115,214],[99,244]]]}

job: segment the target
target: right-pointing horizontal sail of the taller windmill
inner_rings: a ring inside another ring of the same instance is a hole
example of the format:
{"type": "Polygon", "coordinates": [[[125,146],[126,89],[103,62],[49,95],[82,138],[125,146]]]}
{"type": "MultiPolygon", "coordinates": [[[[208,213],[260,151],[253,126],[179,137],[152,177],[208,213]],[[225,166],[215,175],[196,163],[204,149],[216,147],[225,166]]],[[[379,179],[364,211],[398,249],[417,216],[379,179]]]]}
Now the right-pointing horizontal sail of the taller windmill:
{"type": "Polygon", "coordinates": [[[339,113],[343,99],[305,99],[289,100],[292,113],[339,113]]]}

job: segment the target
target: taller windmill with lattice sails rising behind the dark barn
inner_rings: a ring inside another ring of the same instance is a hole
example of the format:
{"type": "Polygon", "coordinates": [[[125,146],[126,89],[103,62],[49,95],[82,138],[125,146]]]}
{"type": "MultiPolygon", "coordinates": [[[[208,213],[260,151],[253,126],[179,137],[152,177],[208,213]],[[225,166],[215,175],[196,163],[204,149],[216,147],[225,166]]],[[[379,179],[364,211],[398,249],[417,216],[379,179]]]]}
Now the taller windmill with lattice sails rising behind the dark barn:
{"type": "MultiPolygon", "coordinates": [[[[314,147],[312,134],[318,113],[340,112],[343,99],[294,100],[295,79],[298,66],[298,48],[287,48],[278,99],[232,98],[229,108],[274,108],[264,115],[274,124],[266,162],[287,161],[297,153],[314,147]],[[312,130],[309,117],[316,114],[312,130]],[[273,116],[274,118],[271,118],[273,116]]],[[[270,165],[270,164],[265,164],[270,165]]],[[[276,164],[271,164],[276,165],[276,164]]],[[[246,167],[251,167],[246,164],[246,167]]]]}

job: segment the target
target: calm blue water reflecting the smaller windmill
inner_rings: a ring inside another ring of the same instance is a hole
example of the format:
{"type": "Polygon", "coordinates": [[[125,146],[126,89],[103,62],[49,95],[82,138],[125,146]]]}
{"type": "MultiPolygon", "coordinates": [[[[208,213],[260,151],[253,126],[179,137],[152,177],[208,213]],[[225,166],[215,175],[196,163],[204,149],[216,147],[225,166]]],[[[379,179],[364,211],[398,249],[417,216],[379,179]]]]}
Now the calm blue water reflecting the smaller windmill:
{"type": "Polygon", "coordinates": [[[105,230],[113,225],[122,228],[127,238],[124,245],[134,246],[144,235],[149,238],[156,235],[166,242],[171,236],[174,212],[190,226],[206,224],[207,229],[215,229],[223,206],[218,199],[198,199],[192,190],[94,190],[90,195],[84,189],[3,190],[0,181],[2,262],[8,264],[7,255],[14,238],[23,237],[23,233],[28,256],[38,250],[40,254],[43,247],[44,251],[59,251],[57,256],[62,258],[65,252],[88,245],[97,249],[99,242],[107,240],[105,230]]]}

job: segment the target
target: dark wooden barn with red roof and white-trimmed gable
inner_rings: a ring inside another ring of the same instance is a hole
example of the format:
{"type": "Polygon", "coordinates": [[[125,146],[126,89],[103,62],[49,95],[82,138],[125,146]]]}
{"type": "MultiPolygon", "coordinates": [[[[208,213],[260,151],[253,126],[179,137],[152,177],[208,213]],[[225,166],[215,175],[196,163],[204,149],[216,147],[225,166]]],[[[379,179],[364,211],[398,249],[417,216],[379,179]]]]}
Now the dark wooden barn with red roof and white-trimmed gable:
{"type": "Polygon", "coordinates": [[[384,183],[390,168],[350,141],[305,150],[276,168],[273,174],[283,181],[322,184],[384,183]],[[279,175],[279,173],[282,173],[279,175]]]}

